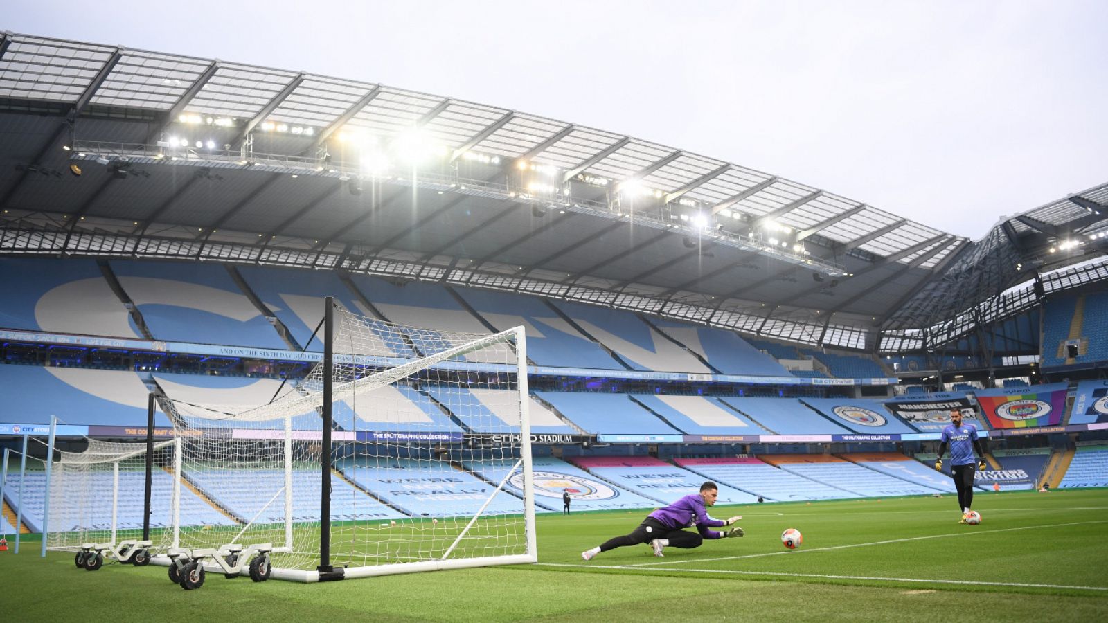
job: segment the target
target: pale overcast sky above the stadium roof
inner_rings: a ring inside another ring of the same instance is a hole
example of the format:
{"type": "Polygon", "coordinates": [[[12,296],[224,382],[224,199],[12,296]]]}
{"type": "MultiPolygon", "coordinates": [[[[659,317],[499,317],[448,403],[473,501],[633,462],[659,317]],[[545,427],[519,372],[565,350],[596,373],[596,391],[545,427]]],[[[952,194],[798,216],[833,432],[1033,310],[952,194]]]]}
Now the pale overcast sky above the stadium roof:
{"type": "Polygon", "coordinates": [[[1108,182],[1108,1],[6,0],[0,30],[379,82],[978,239],[1108,182]]]}

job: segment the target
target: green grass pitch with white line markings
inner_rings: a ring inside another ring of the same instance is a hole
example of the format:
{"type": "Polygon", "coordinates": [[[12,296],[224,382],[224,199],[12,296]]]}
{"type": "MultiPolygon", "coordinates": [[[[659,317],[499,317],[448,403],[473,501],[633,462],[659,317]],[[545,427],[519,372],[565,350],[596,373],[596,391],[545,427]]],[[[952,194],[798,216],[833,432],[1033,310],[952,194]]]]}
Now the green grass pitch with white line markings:
{"type": "MultiPolygon", "coordinates": [[[[581,552],[646,511],[538,518],[540,563],[321,584],[209,574],[183,591],[162,566],[79,570],[25,539],[0,552],[0,620],[171,621],[1108,621],[1108,490],[716,507],[743,539],[649,555],[581,552]],[[786,550],[797,528],[803,545],[786,550]]],[[[10,544],[10,539],[9,539],[10,544]]]]}

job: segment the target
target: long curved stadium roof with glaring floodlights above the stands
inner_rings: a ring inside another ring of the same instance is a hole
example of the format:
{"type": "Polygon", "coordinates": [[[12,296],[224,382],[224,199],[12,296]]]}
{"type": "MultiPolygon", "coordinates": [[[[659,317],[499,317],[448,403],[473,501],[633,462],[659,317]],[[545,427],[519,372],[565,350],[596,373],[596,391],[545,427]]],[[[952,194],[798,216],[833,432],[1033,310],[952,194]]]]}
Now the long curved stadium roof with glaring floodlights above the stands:
{"type": "MultiPolygon", "coordinates": [[[[920,288],[1001,248],[720,159],[497,106],[0,37],[0,253],[338,267],[873,349],[882,326],[941,321],[920,313],[920,288]]],[[[1106,192],[994,231],[1014,263],[1042,256],[1037,268],[1102,254],[1088,236],[1054,258],[1044,245],[1104,228],[1106,192]]],[[[972,296],[1018,280],[1003,277],[972,296]]],[[[946,316],[973,303],[955,293],[946,316]]]]}

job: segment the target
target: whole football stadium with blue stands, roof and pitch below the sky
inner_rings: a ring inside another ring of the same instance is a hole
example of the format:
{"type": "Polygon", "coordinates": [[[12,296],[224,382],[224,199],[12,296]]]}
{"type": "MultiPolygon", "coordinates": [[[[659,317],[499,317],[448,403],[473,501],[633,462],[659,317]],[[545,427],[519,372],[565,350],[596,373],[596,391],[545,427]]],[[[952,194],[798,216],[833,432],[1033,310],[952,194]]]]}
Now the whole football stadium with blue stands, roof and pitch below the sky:
{"type": "Polygon", "coordinates": [[[3,619],[1108,619],[1108,182],[748,164],[0,33],[3,619]]]}

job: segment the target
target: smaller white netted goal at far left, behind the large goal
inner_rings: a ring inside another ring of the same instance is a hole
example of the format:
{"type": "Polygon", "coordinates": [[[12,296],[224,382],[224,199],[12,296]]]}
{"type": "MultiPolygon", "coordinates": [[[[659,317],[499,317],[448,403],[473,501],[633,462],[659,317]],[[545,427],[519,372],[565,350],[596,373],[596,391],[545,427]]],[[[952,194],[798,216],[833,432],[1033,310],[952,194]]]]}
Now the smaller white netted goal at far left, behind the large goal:
{"type": "MultiPolygon", "coordinates": [[[[151,470],[151,540],[171,543],[179,480],[174,471],[176,445],[153,446],[151,470]]],[[[89,440],[83,452],[58,451],[51,466],[47,548],[76,551],[84,543],[143,539],[146,490],[146,443],[89,440]]]]}

